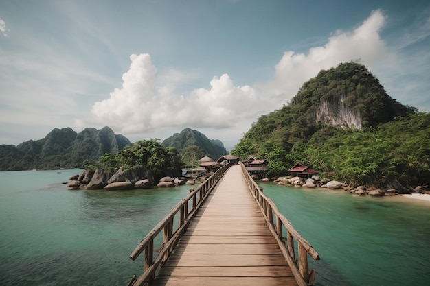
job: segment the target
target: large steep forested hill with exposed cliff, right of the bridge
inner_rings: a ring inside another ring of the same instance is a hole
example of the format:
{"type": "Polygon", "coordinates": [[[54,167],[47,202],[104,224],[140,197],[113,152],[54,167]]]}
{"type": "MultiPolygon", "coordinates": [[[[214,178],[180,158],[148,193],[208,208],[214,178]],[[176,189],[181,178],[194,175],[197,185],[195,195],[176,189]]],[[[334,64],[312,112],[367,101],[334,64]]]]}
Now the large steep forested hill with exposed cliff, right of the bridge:
{"type": "Polygon", "coordinates": [[[365,66],[348,62],[262,115],[231,153],[268,159],[273,175],[299,162],[351,184],[409,187],[429,184],[429,126],[429,113],[392,99],[365,66]]]}

